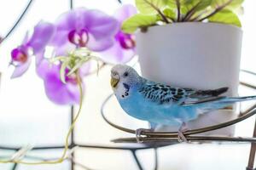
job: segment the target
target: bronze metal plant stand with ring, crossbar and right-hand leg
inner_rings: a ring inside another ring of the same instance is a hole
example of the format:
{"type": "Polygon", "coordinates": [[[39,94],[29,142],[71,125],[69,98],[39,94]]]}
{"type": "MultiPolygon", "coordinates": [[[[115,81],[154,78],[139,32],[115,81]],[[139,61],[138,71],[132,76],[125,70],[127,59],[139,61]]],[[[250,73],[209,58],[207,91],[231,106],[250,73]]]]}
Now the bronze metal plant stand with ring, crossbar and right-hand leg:
{"type": "MultiPolygon", "coordinates": [[[[247,71],[247,73],[252,74],[247,71]]],[[[256,76],[255,73],[253,73],[256,76]]],[[[247,84],[246,82],[241,82],[241,85],[247,86],[248,88],[256,89],[255,86],[252,84],[247,84]]],[[[126,127],[119,126],[113,122],[110,122],[105,116],[104,107],[107,105],[109,99],[113,96],[113,94],[109,95],[108,98],[104,101],[102,105],[102,117],[103,119],[108,122],[108,124],[114,128],[117,128],[125,133],[133,133],[135,134],[135,130],[129,129],[126,127]]],[[[211,127],[203,127],[199,129],[189,130],[184,133],[186,139],[189,142],[207,142],[207,141],[218,141],[218,142],[249,142],[251,143],[251,150],[249,155],[249,161],[247,165],[247,170],[256,170],[253,168],[254,160],[255,160],[255,152],[256,152],[256,120],[254,123],[254,131],[252,138],[241,138],[241,137],[220,137],[220,136],[196,136],[197,133],[205,133],[213,130],[217,130],[219,128],[229,127],[231,125],[236,124],[237,122],[241,122],[246,120],[248,117],[254,116],[256,114],[256,105],[253,105],[247,111],[241,113],[241,116],[238,118],[231,120],[229,122],[220,123],[218,125],[214,125],[211,127]]],[[[177,144],[178,142],[178,133],[177,132],[143,132],[143,137],[140,137],[139,140],[142,141],[144,144],[177,144]]],[[[120,139],[113,139],[115,143],[137,143],[136,138],[120,138],[120,139]]]]}

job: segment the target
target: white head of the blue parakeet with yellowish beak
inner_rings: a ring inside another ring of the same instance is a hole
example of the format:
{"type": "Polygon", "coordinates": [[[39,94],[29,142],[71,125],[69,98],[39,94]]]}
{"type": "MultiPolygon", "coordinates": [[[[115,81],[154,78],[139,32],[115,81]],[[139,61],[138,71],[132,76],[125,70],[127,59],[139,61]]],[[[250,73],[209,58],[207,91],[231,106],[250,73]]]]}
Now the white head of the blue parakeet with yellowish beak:
{"type": "Polygon", "coordinates": [[[141,81],[142,77],[131,66],[114,65],[111,70],[111,87],[118,88],[119,84],[127,84],[130,87],[141,81]]]}

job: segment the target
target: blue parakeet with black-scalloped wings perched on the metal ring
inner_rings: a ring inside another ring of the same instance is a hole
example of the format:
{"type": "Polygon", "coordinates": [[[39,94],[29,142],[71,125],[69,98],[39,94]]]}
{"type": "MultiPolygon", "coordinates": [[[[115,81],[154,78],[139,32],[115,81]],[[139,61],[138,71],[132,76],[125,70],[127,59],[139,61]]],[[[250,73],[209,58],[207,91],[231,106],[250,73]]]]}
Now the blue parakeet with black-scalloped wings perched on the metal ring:
{"type": "MultiPolygon", "coordinates": [[[[183,132],[186,122],[200,114],[256,99],[256,96],[229,98],[220,96],[228,88],[198,90],[177,88],[140,77],[131,66],[115,65],[111,70],[111,86],[119,105],[130,116],[148,121],[151,130],[156,125],[179,127],[179,139],[186,141],[183,132]]],[[[143,128],[137,129],[137,137],[143,128]]],[[[138,138],[137,138],[138,139],[138,138]]]]}

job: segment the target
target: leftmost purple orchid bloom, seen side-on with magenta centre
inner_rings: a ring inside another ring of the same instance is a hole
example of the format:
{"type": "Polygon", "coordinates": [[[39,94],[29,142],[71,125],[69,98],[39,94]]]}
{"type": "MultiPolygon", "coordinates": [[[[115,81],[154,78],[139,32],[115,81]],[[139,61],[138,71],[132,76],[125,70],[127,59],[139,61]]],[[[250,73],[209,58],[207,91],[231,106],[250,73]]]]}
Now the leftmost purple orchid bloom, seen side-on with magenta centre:
{"type": "Polygon", "coordinates": [[[55,26],[41,21],[34,27],[32,37],[29,38],[26,34],[22,44],[11,52],[11,64],[15,65],[12,78],[20,77],[26,72],[31,64],[32,55],[37,55],[44,50],[54,31],[55,26]]]}

